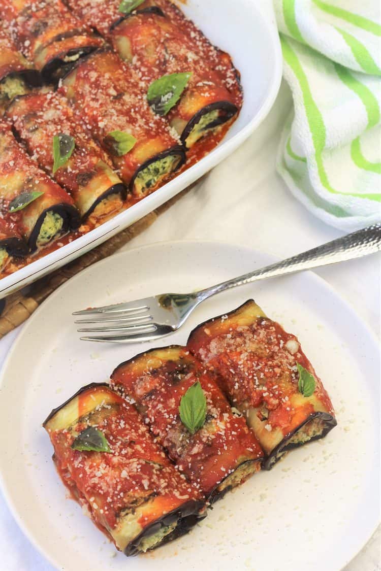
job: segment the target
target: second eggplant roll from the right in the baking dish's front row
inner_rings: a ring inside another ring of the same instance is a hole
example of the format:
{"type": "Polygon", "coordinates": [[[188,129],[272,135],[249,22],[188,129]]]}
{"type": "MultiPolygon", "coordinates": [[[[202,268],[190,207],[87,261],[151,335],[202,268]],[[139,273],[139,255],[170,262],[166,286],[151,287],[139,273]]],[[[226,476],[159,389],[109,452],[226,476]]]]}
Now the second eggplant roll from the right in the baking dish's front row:
{"type": "Polygon", "coordinates": [[[134,198],[154,191],[185,162],[185,152],[165,120],[154,115],[139,79],[117,54],[90,54],[63,80],[62,93],[74,104],[79,122],[108,152],[134,198]],[[127,152],[113,134],[132,137],[127,152]]]}

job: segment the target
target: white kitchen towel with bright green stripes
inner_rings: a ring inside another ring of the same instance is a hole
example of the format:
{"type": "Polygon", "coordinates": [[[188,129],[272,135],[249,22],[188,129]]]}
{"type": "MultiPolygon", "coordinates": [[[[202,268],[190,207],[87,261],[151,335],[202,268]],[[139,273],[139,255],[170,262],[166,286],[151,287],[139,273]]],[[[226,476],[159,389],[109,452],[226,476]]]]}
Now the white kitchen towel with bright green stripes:
{"type": "Polygon", "coordinates": [[[378,0],[274,0],[294,109],[277,168],[324,222],[381,219],[381,18],[378,0]]]}

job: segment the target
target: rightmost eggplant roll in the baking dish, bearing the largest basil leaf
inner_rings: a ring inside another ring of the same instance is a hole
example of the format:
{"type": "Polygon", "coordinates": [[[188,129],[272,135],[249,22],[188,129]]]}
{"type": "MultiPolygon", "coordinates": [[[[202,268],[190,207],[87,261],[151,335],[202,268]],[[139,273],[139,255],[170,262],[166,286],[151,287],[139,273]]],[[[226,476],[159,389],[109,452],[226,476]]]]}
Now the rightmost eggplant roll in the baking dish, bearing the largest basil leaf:
{"type": "Polygon", "coordinates": [[[149,0],[123,7],[119,0],[69,0],[69,5],[134,68],[154,111],[166,115],[186,147],[238,114],[242,90],[230,56],[212,46],[173,3],[149,0]]]}

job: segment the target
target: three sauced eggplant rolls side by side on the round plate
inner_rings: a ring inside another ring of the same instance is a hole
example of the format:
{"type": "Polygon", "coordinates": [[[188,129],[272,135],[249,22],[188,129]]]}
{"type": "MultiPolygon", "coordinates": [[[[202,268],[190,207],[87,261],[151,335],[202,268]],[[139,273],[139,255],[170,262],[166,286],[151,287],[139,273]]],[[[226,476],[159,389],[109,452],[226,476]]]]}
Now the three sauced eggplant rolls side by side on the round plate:
{"type": "Polygon", "coordinates": [[[208,504],[334,426],[294,335],[249,300],[187,346],[119,365],[44,423],[63,482],[127,555],[187,532],[208,504]]]}

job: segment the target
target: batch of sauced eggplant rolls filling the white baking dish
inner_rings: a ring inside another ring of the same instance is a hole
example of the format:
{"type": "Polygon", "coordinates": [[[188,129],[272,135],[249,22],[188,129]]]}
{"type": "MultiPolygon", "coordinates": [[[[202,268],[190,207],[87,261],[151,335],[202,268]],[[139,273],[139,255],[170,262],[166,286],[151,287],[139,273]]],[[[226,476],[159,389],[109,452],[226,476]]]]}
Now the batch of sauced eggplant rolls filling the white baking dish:
{"type": "Polygon", "coordinates": [[[238,114],[230,56],[167,0],[134,5],[0,0],[0,267],[154,191],[238,114]]]}

